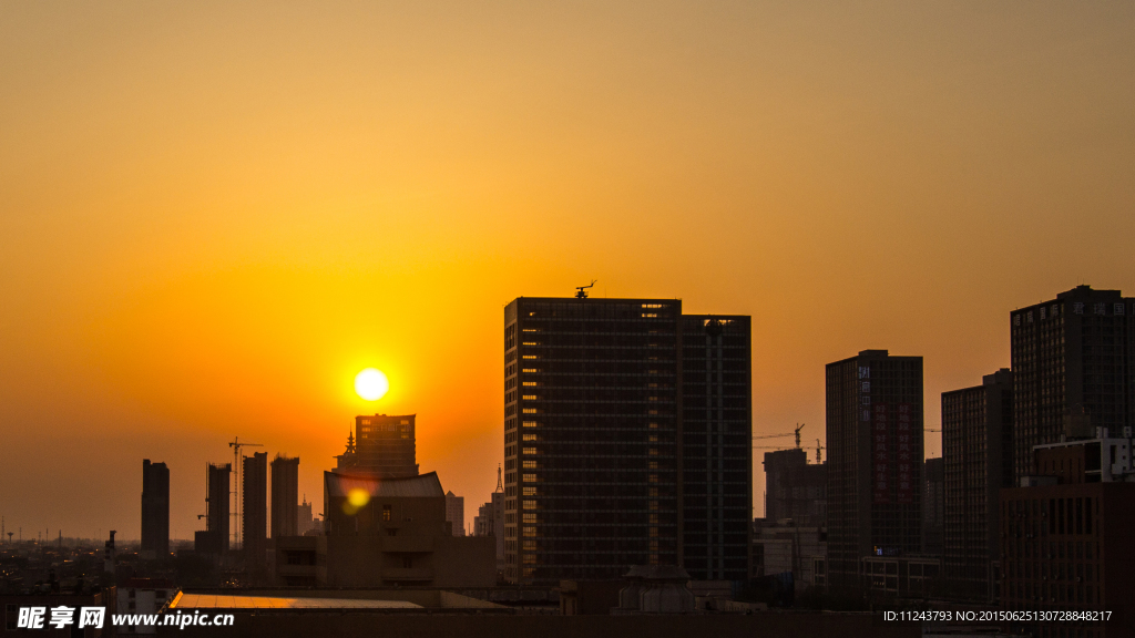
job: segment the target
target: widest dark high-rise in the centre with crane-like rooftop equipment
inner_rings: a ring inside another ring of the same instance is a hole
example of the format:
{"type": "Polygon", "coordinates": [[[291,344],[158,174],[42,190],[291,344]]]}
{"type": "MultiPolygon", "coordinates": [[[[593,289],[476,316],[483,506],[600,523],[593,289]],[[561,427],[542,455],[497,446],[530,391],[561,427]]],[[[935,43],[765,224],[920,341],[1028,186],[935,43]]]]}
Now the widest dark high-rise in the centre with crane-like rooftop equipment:
{"type": "Polygon", "coordinates": [[[683,318],[676,300],[519,297],[505,308],[506,579],[617,578],[636,564],[747,577],[748,326],[683,318]]]}

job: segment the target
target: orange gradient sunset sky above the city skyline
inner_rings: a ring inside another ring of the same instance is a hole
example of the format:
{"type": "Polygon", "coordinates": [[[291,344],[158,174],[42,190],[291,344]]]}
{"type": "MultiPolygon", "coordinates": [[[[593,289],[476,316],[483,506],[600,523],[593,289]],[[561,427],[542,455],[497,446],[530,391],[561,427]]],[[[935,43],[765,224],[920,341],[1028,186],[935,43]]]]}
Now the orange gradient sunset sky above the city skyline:
{"type": "Polygon", "coordinates": [[[751,314],[757,434],[865,349],[936,427],[1011,309],[1135,294],[1133,202],[1130,2],[2,0],[0,513],[136,538],[149,457],[192,538],[236,435],[318,510],[378,411],[471,522],[503,308],[591,278],[751,314]]]}

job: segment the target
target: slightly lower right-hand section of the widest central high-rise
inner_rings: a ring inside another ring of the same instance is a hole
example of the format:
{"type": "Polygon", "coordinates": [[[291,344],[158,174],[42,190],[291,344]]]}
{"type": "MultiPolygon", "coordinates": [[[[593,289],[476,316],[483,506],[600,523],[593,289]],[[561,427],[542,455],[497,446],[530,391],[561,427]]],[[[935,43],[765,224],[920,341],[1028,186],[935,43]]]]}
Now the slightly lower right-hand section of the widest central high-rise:
{"type": "Polygon", "coordinates": [[[753,353],[742,316],[683,314],[679,536],[693,580],[746,580],[753,544],[753,353]]]}

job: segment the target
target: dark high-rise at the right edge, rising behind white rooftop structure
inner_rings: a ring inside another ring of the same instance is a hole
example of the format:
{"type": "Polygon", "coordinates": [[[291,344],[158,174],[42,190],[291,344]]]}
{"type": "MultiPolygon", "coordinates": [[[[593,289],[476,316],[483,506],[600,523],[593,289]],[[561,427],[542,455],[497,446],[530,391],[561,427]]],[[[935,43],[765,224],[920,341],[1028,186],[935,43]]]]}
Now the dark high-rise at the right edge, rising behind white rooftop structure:
{"type": "Polygon", "coordinates": [[[1010,313],[1014,481],[1033,446],[1135,425],[1135,300],[1076,286],[1010,313]]]}

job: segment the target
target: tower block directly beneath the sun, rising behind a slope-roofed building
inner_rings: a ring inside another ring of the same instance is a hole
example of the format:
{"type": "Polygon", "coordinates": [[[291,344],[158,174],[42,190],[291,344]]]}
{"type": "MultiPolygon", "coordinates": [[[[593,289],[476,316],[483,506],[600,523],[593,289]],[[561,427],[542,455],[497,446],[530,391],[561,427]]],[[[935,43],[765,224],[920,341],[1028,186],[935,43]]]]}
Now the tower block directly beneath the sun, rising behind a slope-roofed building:
{"type": "MultiPolygon", "coordinates": [[[[347,471],[367,473],[379,478],[405,478],[418,476],[414,452],[414,414],[375,414],[355,417],[354,467],[347,471]]],[[[351,454],[351,443],[347,453],[351,454]]],[[[340,463],[344,462],[340,459],[340,463]]]]}

